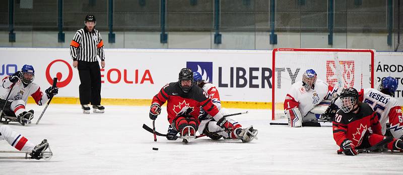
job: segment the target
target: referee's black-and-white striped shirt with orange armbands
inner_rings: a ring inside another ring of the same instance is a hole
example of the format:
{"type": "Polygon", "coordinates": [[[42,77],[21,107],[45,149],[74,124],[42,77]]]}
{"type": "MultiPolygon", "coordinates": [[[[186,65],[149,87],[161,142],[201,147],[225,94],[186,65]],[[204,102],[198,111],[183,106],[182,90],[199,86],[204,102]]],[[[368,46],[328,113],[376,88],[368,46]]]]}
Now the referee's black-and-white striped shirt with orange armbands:
{"type": "Polygon", "coordinates": [[[96,62],[97,55],[101,60],[105,60],[104,43],[98,30],[89,32],[86,27],[80,29],[74,35],[70,43],[70,55],[73,60],[96,62]]]}

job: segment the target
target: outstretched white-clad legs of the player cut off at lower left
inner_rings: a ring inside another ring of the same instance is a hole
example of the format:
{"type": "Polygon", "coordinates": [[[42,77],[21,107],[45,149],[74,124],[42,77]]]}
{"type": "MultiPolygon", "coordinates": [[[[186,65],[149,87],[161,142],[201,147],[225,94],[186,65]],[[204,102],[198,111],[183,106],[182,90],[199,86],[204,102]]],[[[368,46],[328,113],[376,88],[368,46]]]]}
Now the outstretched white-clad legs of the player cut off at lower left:
{"type": "Polygon", "coordinates": [[[46,153],[42,152],[49,147],[49,143],[46,139],[44,139],[41,143],[34,145],[23,135],[17,133],[16,131],[13,131],[7,125],[0,125],[0,140],[6,140],[11,146],[20,151],[32,151],[29,154],[31,155],[31,158],[39,160],[43,157],[45,157],[46,159],[52,156],[50,148],[49,151],[47,151],[46,153]]]}

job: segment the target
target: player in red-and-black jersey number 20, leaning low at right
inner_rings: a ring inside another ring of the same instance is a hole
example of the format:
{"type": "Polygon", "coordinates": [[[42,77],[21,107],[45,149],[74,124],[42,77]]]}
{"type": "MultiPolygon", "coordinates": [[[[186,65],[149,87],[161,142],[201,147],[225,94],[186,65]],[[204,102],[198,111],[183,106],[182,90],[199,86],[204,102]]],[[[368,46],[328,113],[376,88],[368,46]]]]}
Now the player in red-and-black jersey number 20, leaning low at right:
{"type": "MultiPolygon", "coordinates": [[[[356,149],[368,148],[386,138],[382,135],[377,114],[367,103],[358,100],[356,89],[344,89],[340,99],[341,109],[333,119],[333,138],[340,146],[340,152],[357,155],[356,149]]],[[[390,150],[401,150],[403,141],[393,139],[386,147],[390,150]]]]}

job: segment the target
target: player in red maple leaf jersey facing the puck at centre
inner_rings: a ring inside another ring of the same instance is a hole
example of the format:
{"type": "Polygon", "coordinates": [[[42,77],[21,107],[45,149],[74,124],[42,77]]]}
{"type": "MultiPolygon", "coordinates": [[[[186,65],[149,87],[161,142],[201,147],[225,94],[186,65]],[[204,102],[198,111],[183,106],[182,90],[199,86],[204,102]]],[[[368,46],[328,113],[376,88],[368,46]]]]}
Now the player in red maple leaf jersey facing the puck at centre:
{"type": "Polygon", "coordinates": [[[209,95],[200,87],[193,86],[193,73],[188,68],[179,72],[177,82],[166,84],[154,96],[150,107],[150,119],[155,120],[161,112],[161,105],[167,102],[168,122],[182,136],[194,136],[198,128],[200,106],[218,121],[217,125],[229,130],[229,122],[212,103],[209,95]],[[189,134],[190,133],[190,134],[189,134]]]}

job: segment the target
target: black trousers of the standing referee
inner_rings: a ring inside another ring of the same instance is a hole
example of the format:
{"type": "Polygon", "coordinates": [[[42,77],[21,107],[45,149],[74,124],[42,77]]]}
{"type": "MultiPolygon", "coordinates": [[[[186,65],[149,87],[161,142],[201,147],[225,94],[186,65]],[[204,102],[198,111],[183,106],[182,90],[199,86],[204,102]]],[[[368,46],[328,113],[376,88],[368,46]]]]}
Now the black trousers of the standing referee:
{"type": "Polygon", "coordinates": [[[101,70],[99,62],[78,61],[77,69],[80,76],[80,103],[101,104],[101,70]]]}

